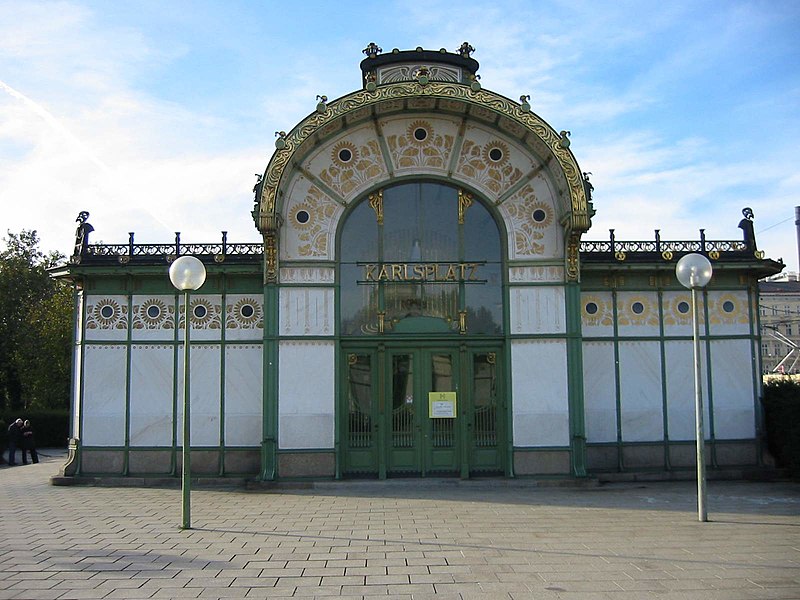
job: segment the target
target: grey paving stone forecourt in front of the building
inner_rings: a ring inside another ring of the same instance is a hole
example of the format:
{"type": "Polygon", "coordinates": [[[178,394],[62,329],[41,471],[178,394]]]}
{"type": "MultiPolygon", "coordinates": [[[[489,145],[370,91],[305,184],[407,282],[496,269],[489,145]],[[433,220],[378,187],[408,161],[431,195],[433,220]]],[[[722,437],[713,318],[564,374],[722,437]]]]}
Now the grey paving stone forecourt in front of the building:
{"type": "Polygon", "coordinates": [[[800,599],[800,485],[54,487],[0,467],[0,599],[800,599]]]}

